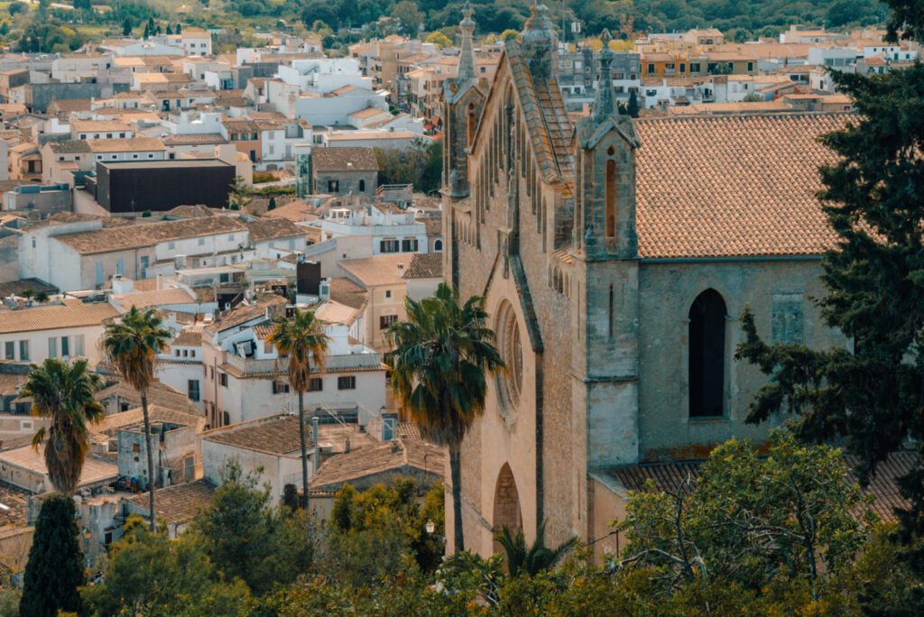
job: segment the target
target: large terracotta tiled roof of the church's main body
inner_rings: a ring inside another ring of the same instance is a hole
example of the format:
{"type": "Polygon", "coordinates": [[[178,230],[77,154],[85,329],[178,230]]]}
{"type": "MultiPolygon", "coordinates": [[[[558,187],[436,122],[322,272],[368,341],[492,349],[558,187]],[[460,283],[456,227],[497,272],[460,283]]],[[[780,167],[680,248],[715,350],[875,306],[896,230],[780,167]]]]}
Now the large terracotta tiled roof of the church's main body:
{"type": "Polygon", "coordinates": [[[640,120],[636,216],[643,258],[818,255],[833,232],[815,197],[819,143],[849,115],[640,120]]]}

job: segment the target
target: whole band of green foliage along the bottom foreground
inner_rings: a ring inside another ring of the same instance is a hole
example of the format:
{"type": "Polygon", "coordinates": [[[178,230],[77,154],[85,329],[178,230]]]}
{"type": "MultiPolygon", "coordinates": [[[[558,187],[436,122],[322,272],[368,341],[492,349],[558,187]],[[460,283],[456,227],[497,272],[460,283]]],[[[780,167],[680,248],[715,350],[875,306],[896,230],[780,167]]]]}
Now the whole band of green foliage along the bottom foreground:
{"type": "Polygon", "coordinates": [[[442,487],[421,501],[411,480],[345,486],[306,532],[232,468],[179,539],[130,523],[82,596],[99,615],[920,614],[893,527],[851,516],[868,501],[845,472],[837,450],[784,431],[769,456],[727,442],[682,490],[631,496],[618,558],[594,564],[578,546],[554,567],[540,556],[564,551],[512,535],[506,555],[439,563],[442,487]]]}

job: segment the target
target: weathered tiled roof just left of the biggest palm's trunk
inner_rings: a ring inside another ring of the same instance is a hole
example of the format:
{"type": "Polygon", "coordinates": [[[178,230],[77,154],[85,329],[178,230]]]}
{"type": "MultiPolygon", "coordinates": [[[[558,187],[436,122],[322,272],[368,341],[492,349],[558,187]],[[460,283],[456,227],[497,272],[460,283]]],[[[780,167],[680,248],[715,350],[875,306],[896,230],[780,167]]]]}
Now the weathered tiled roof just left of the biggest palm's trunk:
{"type": "Polygon", "coordinates": [[[356,482],[386,471],[410,468],[443,475],[444,450],[415,439],[397,439],[346,454],[336,454],[310,479],[311,489],[338,489],[346,482],[356,482]]]}

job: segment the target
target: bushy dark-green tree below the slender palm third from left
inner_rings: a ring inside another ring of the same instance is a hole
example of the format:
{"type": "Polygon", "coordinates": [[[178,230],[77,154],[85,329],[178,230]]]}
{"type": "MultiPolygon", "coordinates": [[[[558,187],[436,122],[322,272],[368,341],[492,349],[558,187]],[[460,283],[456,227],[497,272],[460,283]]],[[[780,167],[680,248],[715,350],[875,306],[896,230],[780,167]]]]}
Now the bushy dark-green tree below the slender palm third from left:
{"type": "Polygon", "coordinates": [[[263,594],[308,569],[314,540],[308,514],[271,507],[269,487],[258,487],[258,480],[258,474],[244,476],[236,464],[228,466],[190,532],[225,577],[263,594]]]}

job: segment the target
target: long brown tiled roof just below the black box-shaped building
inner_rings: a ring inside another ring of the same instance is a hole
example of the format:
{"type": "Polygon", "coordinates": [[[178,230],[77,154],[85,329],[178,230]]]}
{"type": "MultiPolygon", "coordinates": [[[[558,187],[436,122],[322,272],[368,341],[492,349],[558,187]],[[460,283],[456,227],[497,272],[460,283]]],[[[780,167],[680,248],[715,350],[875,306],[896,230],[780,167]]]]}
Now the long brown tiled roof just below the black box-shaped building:
{"type": "Polygon", "coordinates": [[[150,247],[158,242],[168,240],[213,236],[246,229],[247,227],[244,224],[233,217],[212,216],[144,224],[143,233],[138,225],[129,225],[112,229],[78,232],[76,234],[62,234],[61,236],[55,236],[55,240],[74,248],[80,254],[91,255],[126,248],[150,247]]]}

